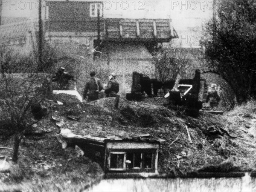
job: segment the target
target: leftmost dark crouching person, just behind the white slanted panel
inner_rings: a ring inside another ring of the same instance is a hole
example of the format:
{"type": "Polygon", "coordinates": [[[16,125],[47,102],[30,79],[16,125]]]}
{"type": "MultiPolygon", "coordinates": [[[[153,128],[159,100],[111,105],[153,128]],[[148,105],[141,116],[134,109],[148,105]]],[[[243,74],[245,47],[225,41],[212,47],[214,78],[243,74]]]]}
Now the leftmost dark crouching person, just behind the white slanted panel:
{"type": "Polygon", "coordinates": [[[64,72],[65,68],[61,67],[60,69],[58,69],[58,72],[56,73],[55,76],[53,76],[52,81],[56,81],[58,83],[58,89],[59,90],[69,90],[70,89],[70,84],[69,84],[69,80],[73,80],[74,76],[70,75],[67,72],[64,72]]]}

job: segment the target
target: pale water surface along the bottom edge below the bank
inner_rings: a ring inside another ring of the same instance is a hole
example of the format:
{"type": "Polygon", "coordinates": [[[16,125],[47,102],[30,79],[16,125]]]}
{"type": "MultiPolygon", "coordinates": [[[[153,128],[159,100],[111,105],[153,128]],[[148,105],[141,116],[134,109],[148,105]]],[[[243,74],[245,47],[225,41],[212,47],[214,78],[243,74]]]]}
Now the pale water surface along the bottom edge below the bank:
{"type": "Polygon", "coordinates": [[[256,178],[107,179],[93,192],[256,192],[256,178]]]}

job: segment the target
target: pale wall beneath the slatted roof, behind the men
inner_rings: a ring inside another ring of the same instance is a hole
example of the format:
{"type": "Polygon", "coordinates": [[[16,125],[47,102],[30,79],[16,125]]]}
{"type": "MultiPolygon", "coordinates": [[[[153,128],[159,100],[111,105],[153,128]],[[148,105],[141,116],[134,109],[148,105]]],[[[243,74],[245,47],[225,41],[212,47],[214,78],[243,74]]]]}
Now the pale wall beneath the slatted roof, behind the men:
{"type": "Polygon", "coordinates": [[[155,77],[152,55],[143,43],[107,43],[101,50],[102,55],[94,61],[100,66],[102,77],[107,78],[113,72],[120,83],[120,94],[131,92],[132,72],[137,71],[155,77]]]}

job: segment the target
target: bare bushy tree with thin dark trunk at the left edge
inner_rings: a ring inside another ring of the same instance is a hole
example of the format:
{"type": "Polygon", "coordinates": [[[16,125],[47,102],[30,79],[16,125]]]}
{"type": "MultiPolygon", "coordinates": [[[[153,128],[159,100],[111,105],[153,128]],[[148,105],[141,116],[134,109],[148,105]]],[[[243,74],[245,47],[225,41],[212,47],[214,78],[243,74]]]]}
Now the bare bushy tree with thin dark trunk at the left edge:
{"type": "Polygon", "coordinates": [[[45,92],[42,89],[47,75],[37,71],[32,55],[21,56],[5,50],[1,52],[0,64],[0,102],[2,113],[14,129],[12,159],[17,162],[22,135],[36,122],[32,109],[40,111],[37,103],[44,99],[45,92]]]}

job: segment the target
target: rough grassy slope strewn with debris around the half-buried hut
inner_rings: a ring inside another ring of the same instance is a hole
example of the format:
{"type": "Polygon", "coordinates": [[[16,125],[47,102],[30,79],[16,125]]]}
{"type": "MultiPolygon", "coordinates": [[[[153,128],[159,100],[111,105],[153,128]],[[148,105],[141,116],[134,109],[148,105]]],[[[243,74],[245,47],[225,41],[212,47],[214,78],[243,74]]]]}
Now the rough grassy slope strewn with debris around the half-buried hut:
{"type": "MultiPolygon", "coordinates": [[[[63,118],[65,124],[61,128],[71,129],[76,134],[131,137],[149,133],[152,137],[165,139],[159,155],[161,173],[172,172],[178,175],[180,172],[186,173],[221,163],[239,166],[244,171],[256,167],[256,105],[253,102],[223,116],[202,112],[198,118],[192,118],[179,111],[154,105],[156,100],[136,103],[121,99],[119,109],[113,108],[113,98],[104,98],[90,104],[76,103],[72,97],[63,99],[58,96],[58,100],[64,101],[64,105],[50,102],[49,115],[38,123],[38,127],[51,129],[52,132],[24,138],[20,146],[19,167],[13,166],[14,171],[19,173],[16,174],[18,177],[11,175],[5,179],[1,183],[1,190],[16,187],[23,190],[78,191],[102,174],[96,163],[84,157],[76,158],[72,149],[61,148],[54,137],[60,128],[50,120],[51,116],[63,118]],[[70,115],[80,119],[70,120],[70,115]],[[189,127],[192,144],[188,141],[185,125],[189,127]],[[237,138],[230,138],[227,134],[209,136],[207,128],[210,126],[224,128],[237,138]],[[179,167],[176,155],[183,156],[179,167]],[[49,169],[46,170],[44,165],[39,166],[40,161],[38,164],[37,160],[47,160],[49,169]],[[40,182],[32,181],[32,174],[36,174],[40,182]],[[89,174],[91,176],[84,179],[89,174]],[[52,175],[56,180],[51,179],[52,175]],[[22,183],[14,185],[13,182],[20,179],[23,179],[22,183]]],[[[12,140],[1,140],[0,144],[12,146],[12,140]]],[[[10,151],[6,150],[2,150],[1,155],[11,156],[10,151]]]]}

